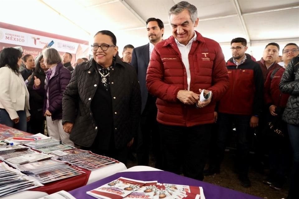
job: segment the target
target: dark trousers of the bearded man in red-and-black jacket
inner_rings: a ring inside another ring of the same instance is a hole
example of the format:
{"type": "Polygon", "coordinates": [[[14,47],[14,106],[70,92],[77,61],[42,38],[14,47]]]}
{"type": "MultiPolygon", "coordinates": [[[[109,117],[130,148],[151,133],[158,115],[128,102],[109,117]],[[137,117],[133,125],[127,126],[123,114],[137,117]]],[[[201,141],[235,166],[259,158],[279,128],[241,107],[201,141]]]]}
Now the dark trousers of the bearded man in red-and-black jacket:
{"type": "Polygon", "coordinates": [[[248,174],[249,169],[249,140],[250,140],[250,122],[249,115],[233,115],[226,113],[218,113],[218,136],[217,136],[217,153],[213,166],[220,169],[221,162],[224,157],[224,150],[226,147],[226,139],[232,130],[232,124],[235,124],[237,133],[237,161],[236,169],[240,175],[248,174]]]}

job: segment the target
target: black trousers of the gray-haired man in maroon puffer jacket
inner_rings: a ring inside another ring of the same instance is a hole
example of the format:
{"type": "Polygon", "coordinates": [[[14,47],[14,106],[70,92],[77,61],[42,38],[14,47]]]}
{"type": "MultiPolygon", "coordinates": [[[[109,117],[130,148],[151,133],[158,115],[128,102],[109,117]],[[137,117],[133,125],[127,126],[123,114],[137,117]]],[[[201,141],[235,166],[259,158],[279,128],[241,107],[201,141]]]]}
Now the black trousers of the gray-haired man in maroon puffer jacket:
{"type": "Polygon", "coordinates": [[[193,127],[159,124],[163,154],[163,170],[186,177],[203,180],[208,145],[211,139],[211,124],[193,127]]]}

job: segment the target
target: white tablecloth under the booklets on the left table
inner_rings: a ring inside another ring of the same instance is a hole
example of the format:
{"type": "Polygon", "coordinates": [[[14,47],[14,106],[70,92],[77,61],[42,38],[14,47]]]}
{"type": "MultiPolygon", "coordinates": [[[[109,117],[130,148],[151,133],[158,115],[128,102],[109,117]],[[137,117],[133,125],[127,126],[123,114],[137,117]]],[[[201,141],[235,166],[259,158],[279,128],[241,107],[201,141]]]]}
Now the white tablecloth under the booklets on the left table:
{"type": "MultiPolygon", "coordinates": [[[[87,184],[93,183],[97,180],[101,180],[110,175],[124,171],[125,169],[127,169],[126,165],[120,162],[118,164],[104,167],[102,169],[94,170],[90,173],[87,184]]],[[[1,199],[37,199],[37,198],[44,197],[47,195],[48,194],[46,192],[23,191],[23,192],[18,192],[18,193],[15,193],[15,194],[12,194],[12,195],[9,195],[6,197],[1,197],[1,199]]]]}

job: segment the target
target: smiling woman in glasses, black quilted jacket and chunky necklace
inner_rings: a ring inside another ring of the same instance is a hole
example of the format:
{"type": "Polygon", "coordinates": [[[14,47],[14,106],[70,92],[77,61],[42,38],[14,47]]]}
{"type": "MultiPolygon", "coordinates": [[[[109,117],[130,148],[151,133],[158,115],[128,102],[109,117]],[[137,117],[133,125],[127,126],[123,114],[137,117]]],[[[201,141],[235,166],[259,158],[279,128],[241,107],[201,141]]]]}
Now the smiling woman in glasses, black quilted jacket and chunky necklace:
{"type": "Polygon", "coordinates": [[[63,94],[63,127],[84,150],[126,164],[140,118],[140,87],[134,68],[116,57],[109,30],[94,36],[93,59],[74,70],[63,94]]]}

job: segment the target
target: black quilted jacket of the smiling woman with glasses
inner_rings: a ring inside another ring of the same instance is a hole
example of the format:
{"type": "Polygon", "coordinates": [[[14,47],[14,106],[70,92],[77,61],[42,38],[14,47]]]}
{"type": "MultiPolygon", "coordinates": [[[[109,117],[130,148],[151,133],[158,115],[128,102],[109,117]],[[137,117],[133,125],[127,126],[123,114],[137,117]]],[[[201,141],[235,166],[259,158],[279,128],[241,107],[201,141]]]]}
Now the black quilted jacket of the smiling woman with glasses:
{"type": "MultiPolygon", "coordinates": [[[[62,124],[74,123],[70,140],[79,146],[91,146],[97,135],[90,104],[97,89],[99,75],[94,60],[78,65],[63,93],[62,124]]],[[[116,58],[109,75],[116,148],[137,134],[141,111],[140,86],[135,69],[116,58]]]]}

